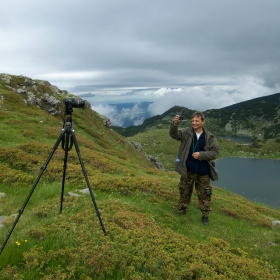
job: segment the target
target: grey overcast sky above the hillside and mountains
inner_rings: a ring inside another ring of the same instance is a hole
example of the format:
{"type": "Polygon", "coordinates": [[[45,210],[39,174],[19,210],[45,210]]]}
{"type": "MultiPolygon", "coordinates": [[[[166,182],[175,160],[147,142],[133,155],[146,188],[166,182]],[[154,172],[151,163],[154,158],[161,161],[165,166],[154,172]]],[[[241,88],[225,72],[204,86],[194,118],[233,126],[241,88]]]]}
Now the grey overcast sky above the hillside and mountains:
{"type": "Polygon", "coordinates": [[[279,0],[1,0],[0,8],[0,73],[91,93],[94,106],[154,101],[154,115],[279,92],[279,0]]]}

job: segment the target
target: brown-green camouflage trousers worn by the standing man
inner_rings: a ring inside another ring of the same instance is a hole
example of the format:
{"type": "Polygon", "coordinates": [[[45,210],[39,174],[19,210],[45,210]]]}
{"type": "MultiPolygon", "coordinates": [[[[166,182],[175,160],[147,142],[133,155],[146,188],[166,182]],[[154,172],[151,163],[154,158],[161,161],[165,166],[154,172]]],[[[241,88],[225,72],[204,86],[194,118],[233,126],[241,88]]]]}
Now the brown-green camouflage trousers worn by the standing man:
{"type": "Polygon", "coordinates": [[[199,175],[188,172],[188,177],[181,177],[179,182],[180,198],[178,203],[179,213],[185,214],[191,202],[193,187],[198,197],[199,209],[204,217],[208,217],[211,211],[212,187],[208,175],[199,175]]]}

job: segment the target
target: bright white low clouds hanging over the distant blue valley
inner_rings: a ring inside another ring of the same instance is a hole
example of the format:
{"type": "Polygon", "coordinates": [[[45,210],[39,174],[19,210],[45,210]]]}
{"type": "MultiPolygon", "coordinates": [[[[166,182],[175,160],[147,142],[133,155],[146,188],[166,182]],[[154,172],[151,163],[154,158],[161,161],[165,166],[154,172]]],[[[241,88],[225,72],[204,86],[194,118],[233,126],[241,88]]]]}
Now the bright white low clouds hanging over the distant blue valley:
{"type": "Polygon", "coordinates": [[[92,109],[110,118],[112,125],[127,127],[141,125],[155,115],[161,115],[173,106],[206,111],[220,109],[242,101],[276,93],[255,80],[246,80],[240,85],[205,85],[185,88],[157,88],[134,91],[126,94],[133,100],[129,103],[92,103],[92,109]],[[153,102],[139,102],[138,97],[153,102]]]}

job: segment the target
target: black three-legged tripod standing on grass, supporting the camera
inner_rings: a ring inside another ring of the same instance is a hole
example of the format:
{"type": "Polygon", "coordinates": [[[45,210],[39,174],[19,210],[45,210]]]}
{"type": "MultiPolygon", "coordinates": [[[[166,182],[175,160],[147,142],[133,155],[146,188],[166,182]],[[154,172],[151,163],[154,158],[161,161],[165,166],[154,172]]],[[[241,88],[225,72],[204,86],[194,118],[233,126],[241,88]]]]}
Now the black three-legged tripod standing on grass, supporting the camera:
{"type": "MultiPolygon", "coordinates": [[[[69,101],[69,99],[67,99],[69,101]]],[[[66,104],[66,103],[65,103],[66,104]]],[[[88,186],[88,189],[89,189],[89,192],[90,192],[90,196],[91,196],[91,199],[92,199],[92,202],[93,202],[93,205],[94,205],[94,208],[95,208],[95,211],[96,211],[96,214],[97,214],[97,217],[99,219],[99,222],[100,222],[100,225],[102,227],[102,230],[104,232],[104,234],[106,235],[106,230],[105,230],[105,227],[103,225],[103,222],[102,222],[102,219],[101,219],[101,213],[99,212],[98,210],[98,207],[97,207],[97,204],[96,204],[96,201],[95,201],[95,198],[94,198],[94,194],[93,194],[93,191],[92,191],[92,188],[90,186],[90,183],[89,183],[89,180],[88,180],[88,177],[87,177],[87,171],[85,169],[85,166],[84,166],[84,163],[83,163],[83,160],[82,160],[82,157],[81,157],[81,153],[80,153],[80,149],[79,149],[79,145],[78,145],[78,142],[77,142],[77,139],[76,139],[76,136],[75,136],[75,133],[74,133],[74,129],[72,127],[72,115],[71,113],[73,112],[72,110],[72,102],[70,102],[68,104],[68,106],[66,106],[66,111],[65,111],[65,115],[67,116],[67,119],[66,119],[66,123],[65,123],[65,126],[64,128],[62,129],[61,131],[61,134],[60,136],[58,137],[55,145],[53,146],[53,149],[51,151],[51,153],[49,154],[49,157],[48,159],[46,160],[45,164],[41,167],[41,171],[31,189],[31,191],[29,192],[25,202],[23,203],[23,206],[18,210],[18,215],[3,243],[3,245],[1,246],[1,249],[0,249],[0,255],[2,253],[2,251],[4,250],[20,216],[22,215],[29,199],[31,198],[37,184],[39,183],[40,179],[41,179],[41,176],[43,175],[44,171],[46,170],[55,150],[57,149],[59,143],[61,142],[62,144],[62,148],[63,150],[65,151],[65,154],[64,154],[64,165],[63,165],[63,178],[62,178],[62,189],[61,189],[61,197],[60,197],[60,214],[62,213],[62,204],[63,204],[63,200],[64,200],[64,185],[65,185],[65,175],[66,175],[66,169],[67,169],[67,160],[68,160],[68,151],[70,151],[73,147],[73,143],[74,143],[74,146],[75,146],[75,149],[76,149],[76,152],[78,154],[78,158],[79,158],[79,161],[80,161],[80,164],[81,164],[81,167],[82,167],[82,171],[83,171],[83,174],[84,174],[84,177],[85,177],[85,180],[86,180],[86,183],[87,183],[87,186],[88,186]],[[70,104],[70,109],[69,109],[69,104],[70,104]]],[[[75,103],[73,103],[75,105],[75,103]]],[[[78,107],[78,106],[77,106],[78,107]]],[[[79,106],[80,107],[80,106],[79,106]]]]}

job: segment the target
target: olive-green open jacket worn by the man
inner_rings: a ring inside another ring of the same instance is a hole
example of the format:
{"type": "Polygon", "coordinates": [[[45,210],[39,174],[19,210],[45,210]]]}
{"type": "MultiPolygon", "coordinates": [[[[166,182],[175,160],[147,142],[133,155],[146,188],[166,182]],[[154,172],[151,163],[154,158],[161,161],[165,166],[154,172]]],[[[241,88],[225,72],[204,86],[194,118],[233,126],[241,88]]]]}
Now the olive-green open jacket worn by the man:
{"type": "MultiPolygon", "coordinates": [[[[205,151],[200,151],[199,160],[207,160],[210,164],[210,160],[214,160],[217,158],[219,154],[219,145],[214,135],[210,133],[208,130],[203,128],[205,133],[205,141],[206,141],[206,149],[205,151]]],[[[186,160],[188,157],[189,149],[193,139],[193,129],[191,127],[186,127],[184,129],[179,130],[178,125],[170,125],[169,135],[175,140],[181,141],[181,145],[179,148],[178,156],[180,158],[180,162],[176,163],[175,170],[182,176],[188,177],[188,170],[186,166],[186,160]]],[[[218,173],[216,169],[210,164],[210,172],[211,179],[213,181],[218,181],[218,173]]]]}

